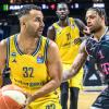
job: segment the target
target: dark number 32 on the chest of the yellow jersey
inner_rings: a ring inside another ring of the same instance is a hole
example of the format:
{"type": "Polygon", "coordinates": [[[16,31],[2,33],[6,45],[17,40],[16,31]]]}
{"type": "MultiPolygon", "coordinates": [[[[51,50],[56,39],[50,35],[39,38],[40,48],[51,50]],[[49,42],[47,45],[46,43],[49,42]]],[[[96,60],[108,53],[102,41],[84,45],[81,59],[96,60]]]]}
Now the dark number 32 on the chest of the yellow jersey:
{"type": "Polygon", "coordinates": [[[23,68],[23,76],[24,77],[34,77],[33,76],[33,72],[34,72],[34,69],[33,68],[27,68],[27,66],[24,66],[23,68]]]}

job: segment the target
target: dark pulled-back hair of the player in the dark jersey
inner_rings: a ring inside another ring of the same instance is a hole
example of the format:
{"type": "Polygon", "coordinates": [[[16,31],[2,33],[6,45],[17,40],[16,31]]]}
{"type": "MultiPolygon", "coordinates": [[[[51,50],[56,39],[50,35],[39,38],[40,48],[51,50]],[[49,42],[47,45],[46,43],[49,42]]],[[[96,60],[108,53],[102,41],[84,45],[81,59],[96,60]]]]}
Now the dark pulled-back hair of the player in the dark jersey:
{"type": "Polygon", "coordinates": [[[106,15],[105,9],[96,7],[96,8],[89,8],[87,11],[89,11],[89,10],[96,11],[100,17],[104,16],[105,22],[107,23],[107,15],[106,15]]]}

